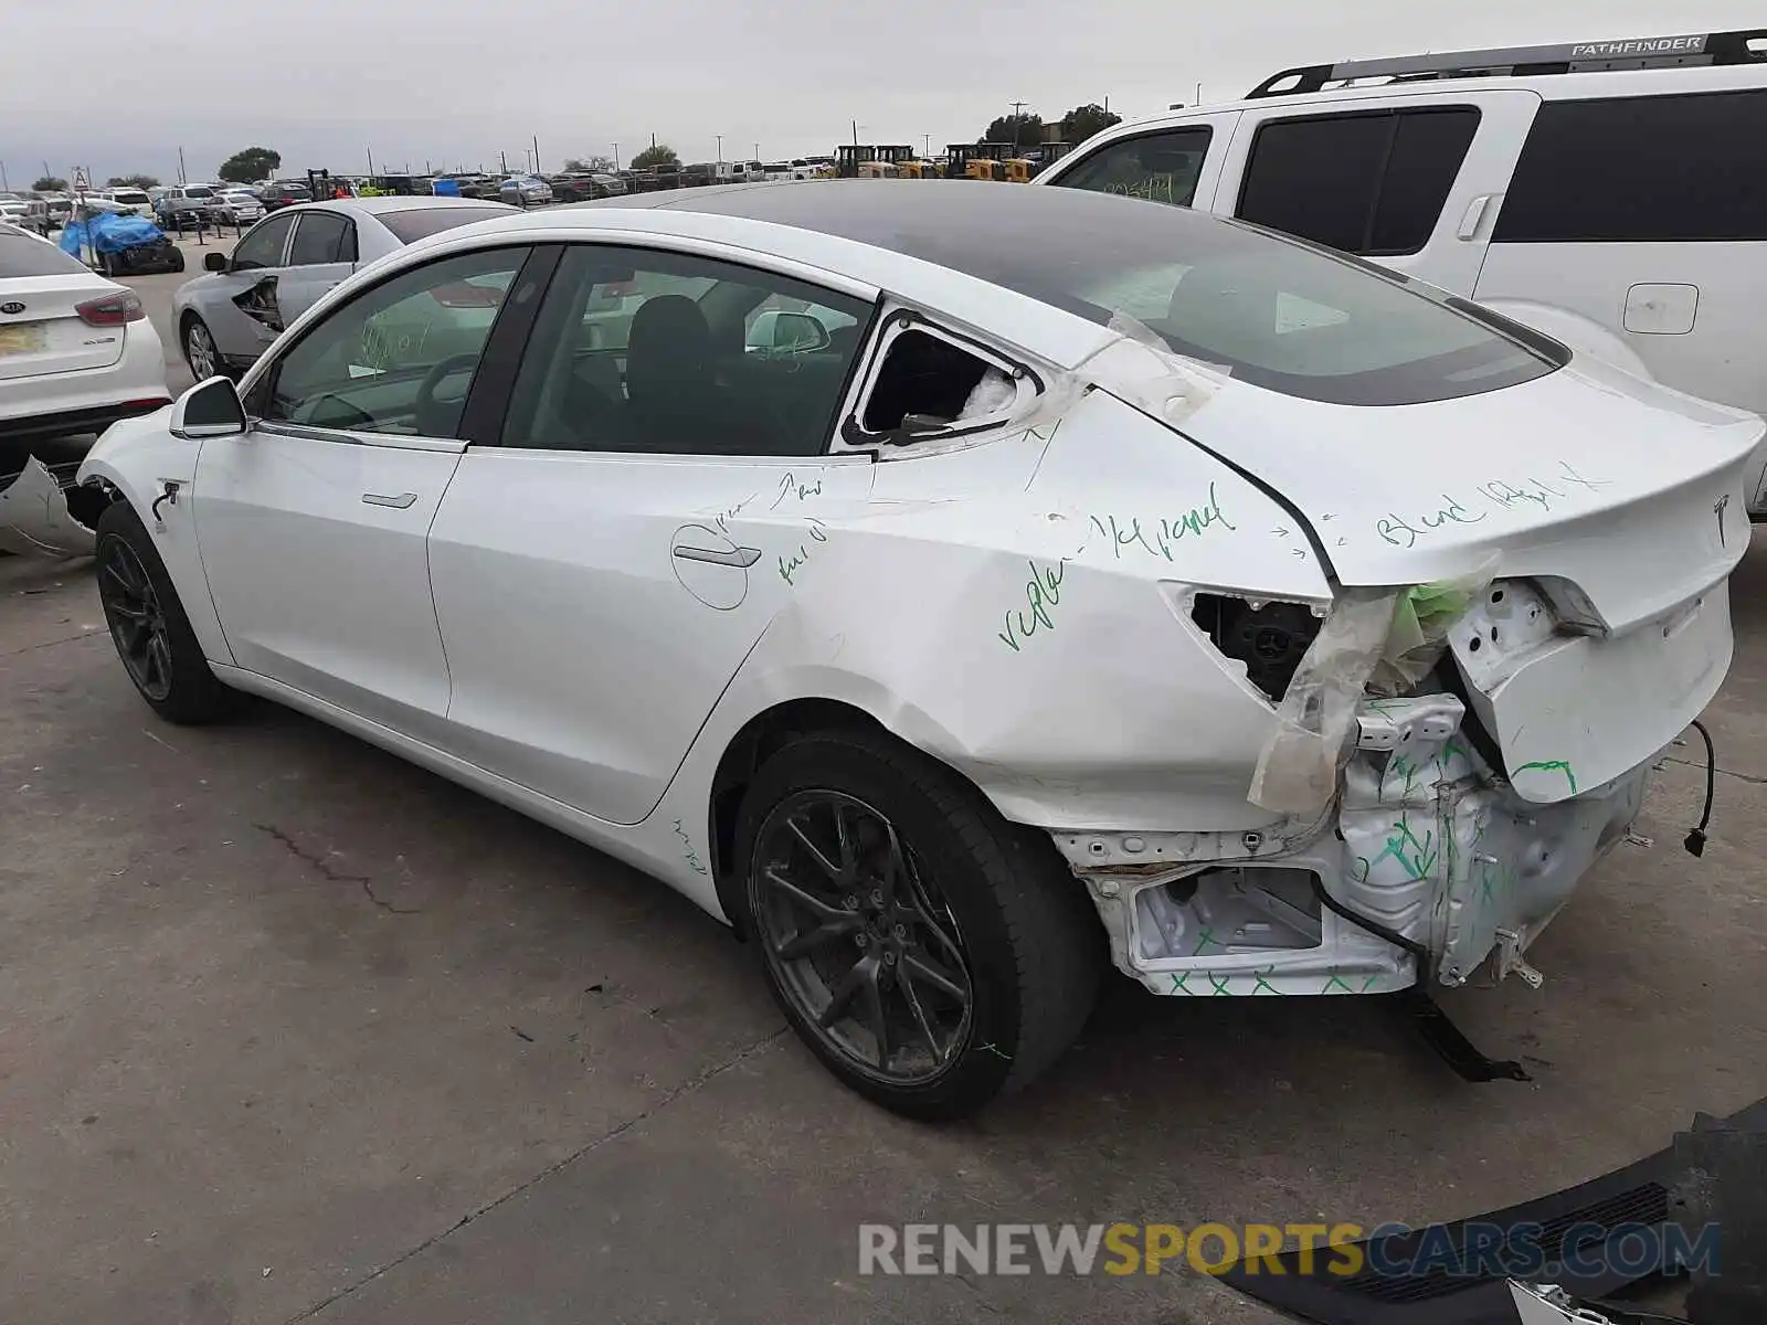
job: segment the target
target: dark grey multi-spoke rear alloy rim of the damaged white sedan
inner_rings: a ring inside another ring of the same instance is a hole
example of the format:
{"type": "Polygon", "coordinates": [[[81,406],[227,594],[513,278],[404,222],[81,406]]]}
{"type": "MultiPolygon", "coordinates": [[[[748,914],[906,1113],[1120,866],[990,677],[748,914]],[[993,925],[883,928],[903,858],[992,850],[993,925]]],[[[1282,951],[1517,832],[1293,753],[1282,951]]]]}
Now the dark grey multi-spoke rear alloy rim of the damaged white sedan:
{"type": "Polygon", "coordinates": [[[762,823],[749,867],[763,958],[823,1044],[891,1085],[961,1056],[975,1012],[963,935],[889,818],[797,791],[762,823]]]}

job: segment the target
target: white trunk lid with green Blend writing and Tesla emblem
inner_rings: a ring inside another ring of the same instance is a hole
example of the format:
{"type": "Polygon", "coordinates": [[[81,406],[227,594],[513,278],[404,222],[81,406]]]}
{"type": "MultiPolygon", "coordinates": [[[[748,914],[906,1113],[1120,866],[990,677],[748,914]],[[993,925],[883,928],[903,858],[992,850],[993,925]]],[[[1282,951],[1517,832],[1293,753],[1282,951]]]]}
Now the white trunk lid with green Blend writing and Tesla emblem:
{"type": "MultiPolygon", "coordinates": [[[[1140,355],[1120,359],[1119,383],[1096,376],[1147,408],[1157,390],[1140,355]]],[[[1339,583],[1491,579],[1449,648],[1518,795],[1610,783],[1723,682],[1758,417],[1583,360],[1430,405],[1355,408],[1232,380],[1187,394],[1173,426],[1281,493],[1339,583]]]]}

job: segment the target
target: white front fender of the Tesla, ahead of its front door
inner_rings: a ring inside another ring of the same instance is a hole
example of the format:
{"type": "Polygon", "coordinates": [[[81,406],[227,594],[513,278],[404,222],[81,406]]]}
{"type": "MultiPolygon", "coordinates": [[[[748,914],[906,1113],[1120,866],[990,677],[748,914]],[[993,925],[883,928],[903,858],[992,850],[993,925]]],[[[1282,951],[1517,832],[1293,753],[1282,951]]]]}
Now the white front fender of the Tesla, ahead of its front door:
{"type": "MultiPolygon", "coordinates": [[[[231,666],[233,652],[221,632],[214,602],[209,597],[209,579],[203,574],[201,551],[196,542],[196,459],[200,440],[186,440],[168,431],[170,406],[157,413],[125,419],[110,429],[87,452],[80,465],[80,482],[102,481],[117,489],[147,526],[154,549],[166,565],[178,602],[184,606],[191,629],[212,662],[231,666]],[[177,504],[161,507],[154,518],[154,500],[166,482],[178,484],[177,504]]],[[[233,438],[223,442],[239,445],[233,438]]]]}

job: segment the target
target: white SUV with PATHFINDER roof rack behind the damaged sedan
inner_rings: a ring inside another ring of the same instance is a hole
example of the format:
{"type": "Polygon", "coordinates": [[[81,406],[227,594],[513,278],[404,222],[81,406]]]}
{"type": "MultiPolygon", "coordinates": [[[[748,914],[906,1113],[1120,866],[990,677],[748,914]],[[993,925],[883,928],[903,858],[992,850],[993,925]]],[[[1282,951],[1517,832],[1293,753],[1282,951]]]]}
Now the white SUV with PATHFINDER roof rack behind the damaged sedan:
{"type": "Polygon", "coordinates": [[[1285,230],[1767,413],[1767,28],[1285,69],[1035,182],[1285,230]]]}

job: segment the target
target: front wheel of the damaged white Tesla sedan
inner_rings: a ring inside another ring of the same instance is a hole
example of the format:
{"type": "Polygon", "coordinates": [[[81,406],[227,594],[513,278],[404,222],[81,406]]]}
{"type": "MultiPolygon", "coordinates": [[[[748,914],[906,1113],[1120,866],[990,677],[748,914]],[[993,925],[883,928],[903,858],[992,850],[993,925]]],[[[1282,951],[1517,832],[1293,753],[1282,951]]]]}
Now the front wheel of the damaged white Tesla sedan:
{"type": "Polygon", "coordinates": [[[171,576],[127,502],[113,502],[99,516],[97,579],[117,655],[154,712],[184,724],[233,712],[235,693],[209,668],[171,576]]]}

